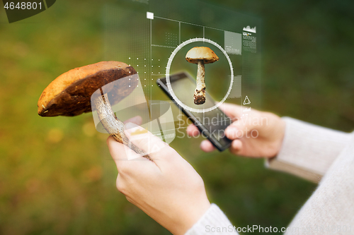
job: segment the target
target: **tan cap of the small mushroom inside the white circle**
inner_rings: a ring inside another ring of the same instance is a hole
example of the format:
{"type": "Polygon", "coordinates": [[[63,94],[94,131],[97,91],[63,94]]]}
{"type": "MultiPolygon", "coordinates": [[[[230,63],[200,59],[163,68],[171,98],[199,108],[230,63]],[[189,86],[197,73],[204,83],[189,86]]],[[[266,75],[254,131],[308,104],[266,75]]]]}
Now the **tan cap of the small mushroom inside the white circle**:
{"type": "Polygon", "coordinates": [[[219,57],[209,47],[193,47],[185,55],[189,63],[198,64],[198,59],[204,60],[204,64],[210,64],[218,61],[219,57]]]}

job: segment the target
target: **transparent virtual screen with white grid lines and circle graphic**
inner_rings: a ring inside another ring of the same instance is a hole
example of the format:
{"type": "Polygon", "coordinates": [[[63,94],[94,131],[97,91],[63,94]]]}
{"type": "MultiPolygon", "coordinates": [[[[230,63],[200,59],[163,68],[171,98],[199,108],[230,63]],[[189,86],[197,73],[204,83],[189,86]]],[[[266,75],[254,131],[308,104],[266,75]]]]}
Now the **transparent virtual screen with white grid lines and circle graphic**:
{"type": "MultiPolygon", "coordinates": [[[[218,109],[210,109],[215,102],[239,104],[244,107],[244,116],[253,107],[261,106],[260,19],[196,0],[107,4],[103,16],[104,59],[125,62],[134,67],[139,76],[139,95],[130,96],[128,103],[131,104],[127,105],[131,106],[126,107],[125,112],[118,110],[117,115],[129,116],[130,112],[137,114],[133,110],[144,110],[144,123],[149,126],[156,116],[164,113],[161,105],[156,104],[163,102],[171,107],[167,112],[171,115],[163,117],[169,125],[156,124],[148,129],[164,133],[178,128],[176,123],[181,119],[181,112],[176,112],[156,80],[165,78],[166,71],[169,76],[185,72],[196,83],[198,65],[185,59],[193,47],[209,47],[219,60],[205,64],[205,90],[212,97],[206,99],[205,104],[193,102],[195,83],[185,80],[185,83],[170,84],[185,107],[198,109],[202,112],[198,115],[205,117],[217,115],[218,109]],[[195,41],[190,42],[193,39],[195,41]],[[134,99],[141,98],[144,102],[138,103],[146,109],[135,108],[134,99]]],[[[223,119],[220,116],[218,121],[223,119]]]]}

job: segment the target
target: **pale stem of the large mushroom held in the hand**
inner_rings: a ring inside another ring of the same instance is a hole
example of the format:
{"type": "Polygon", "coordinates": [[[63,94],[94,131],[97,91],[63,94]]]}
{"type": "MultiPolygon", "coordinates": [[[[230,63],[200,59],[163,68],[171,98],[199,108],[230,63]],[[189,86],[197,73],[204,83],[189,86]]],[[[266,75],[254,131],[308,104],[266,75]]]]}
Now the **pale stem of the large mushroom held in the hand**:
{"type": "Polygon", "coordinates": [[[140,150],[139,147],[131,143],[127,138],[127,135],[124,133],[124,123],[122,123],[122,121],[115,116],[112,107],[110,107],[107,96],[103,95],[102,89],[100,90],[102,95],[95,99],[95,105],[98,119],[100,119],[105,131],[107,131],[117,142],[130,147],[132,150],[137,152],[137,154],[152,161],[149,155],[140,150]]]}

